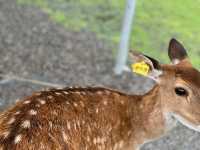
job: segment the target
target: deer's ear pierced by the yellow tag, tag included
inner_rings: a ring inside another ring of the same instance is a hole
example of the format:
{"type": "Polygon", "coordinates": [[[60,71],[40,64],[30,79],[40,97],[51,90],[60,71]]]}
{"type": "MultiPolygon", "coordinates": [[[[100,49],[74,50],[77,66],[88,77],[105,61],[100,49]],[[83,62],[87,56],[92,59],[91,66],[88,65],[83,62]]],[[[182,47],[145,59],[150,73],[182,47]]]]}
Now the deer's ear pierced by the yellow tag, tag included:
{"type": "Polygon", "coordinates": [[[156,59],[135,51],[130,52],[129,56],[131,58],[133,72],[145,75],[148,78],[156,81],[158,80],[158,77],[162,74],[162,70],[159,62],[156,59]],[[135,69],[137,67],[139,68],[138,71],[135,69]],[[147,70],[145,70],[145,68],[147,68],[147,70]]]}

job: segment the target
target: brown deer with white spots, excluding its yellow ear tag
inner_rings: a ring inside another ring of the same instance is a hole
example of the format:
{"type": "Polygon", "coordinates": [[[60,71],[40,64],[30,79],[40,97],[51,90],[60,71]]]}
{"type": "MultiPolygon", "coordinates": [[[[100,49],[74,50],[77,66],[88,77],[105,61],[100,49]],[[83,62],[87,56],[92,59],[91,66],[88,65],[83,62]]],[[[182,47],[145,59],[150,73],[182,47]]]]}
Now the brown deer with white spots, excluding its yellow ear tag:
{"type": "Polygon", "coordinates": [[[139,150],[177,122],[200,132],[200,72],[176,39],[171,64],[142,53],[155,81],[131,95],[104,87],[67,87],[34,92],[0,114],[1,150],[139,150]]]}

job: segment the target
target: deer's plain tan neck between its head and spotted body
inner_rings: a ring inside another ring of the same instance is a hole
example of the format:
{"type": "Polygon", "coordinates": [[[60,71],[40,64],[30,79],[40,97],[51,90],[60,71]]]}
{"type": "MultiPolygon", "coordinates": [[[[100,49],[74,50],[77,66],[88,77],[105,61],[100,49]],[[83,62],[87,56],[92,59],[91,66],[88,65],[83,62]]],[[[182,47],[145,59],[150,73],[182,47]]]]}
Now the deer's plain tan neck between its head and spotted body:
{"type": "Polygon", "coordinates": [[[162,112],[160,89],[155,85],[152,90],[143,95],[139,103],[141,116],[139,144],[157,139],[165,133],[165,116],[162,112]]]}

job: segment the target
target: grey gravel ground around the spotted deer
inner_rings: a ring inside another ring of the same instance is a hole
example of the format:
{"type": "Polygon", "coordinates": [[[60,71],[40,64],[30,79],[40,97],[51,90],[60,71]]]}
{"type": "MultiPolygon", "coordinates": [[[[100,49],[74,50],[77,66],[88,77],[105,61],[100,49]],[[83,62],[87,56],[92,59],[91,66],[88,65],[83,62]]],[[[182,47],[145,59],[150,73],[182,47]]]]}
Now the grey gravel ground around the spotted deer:
{"type": "MultiPolygon", "coordinates": [[[[95,34],[73,32],[53,23],[38,8],[0,0],[0,72],[65,86],[103,85],[144,93],[153,83],[143,77],[113,74],[112,48],[95,34]]],[[[116,46],[117,47],[117,46],[116,46]]],[[[0,110],[44,86],[0,81],[0,110]]],[[[200,150],[200,134],[179,125],[142,150],[200,150]]]]}

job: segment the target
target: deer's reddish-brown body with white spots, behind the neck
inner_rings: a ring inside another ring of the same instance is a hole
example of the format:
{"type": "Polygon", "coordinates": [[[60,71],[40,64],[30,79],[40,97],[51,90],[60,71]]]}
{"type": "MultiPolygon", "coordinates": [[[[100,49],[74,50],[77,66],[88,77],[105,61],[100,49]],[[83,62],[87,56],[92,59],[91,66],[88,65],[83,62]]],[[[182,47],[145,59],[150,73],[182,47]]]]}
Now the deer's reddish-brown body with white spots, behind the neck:
{"type": "Polygon", "coordinates": [[[34,93],[1,114],[0,148],[120,147],[132,134],[130,114],[137,111],[129,101],[126,94],[104,88],[34,93]]]}

